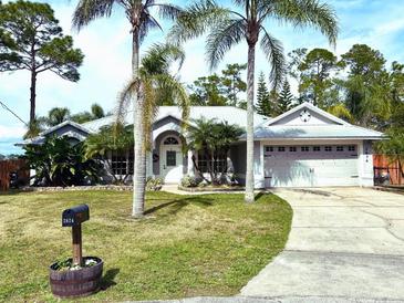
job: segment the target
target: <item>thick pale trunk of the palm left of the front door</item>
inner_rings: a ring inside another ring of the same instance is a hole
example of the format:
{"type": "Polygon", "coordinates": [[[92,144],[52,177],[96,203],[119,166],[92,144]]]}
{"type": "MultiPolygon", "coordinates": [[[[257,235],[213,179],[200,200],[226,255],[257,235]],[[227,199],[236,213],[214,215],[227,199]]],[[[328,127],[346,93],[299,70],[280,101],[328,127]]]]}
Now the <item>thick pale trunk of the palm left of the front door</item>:
{"type": "MultiPolygon", "coordinates": [[[[139,69],[139,33],[137,28],[133,32],[132,42],[132,74],[133,79],[138,79],[139,69]]],[[[132,216],[142,218],[145,206],[146,190],[146,153],[145,153],[145,132],[143,124],[143,97],[139,90],[133,97],[133,118],[134,118],[134,176],[133,176],[133,210],[132,216]]]]}

